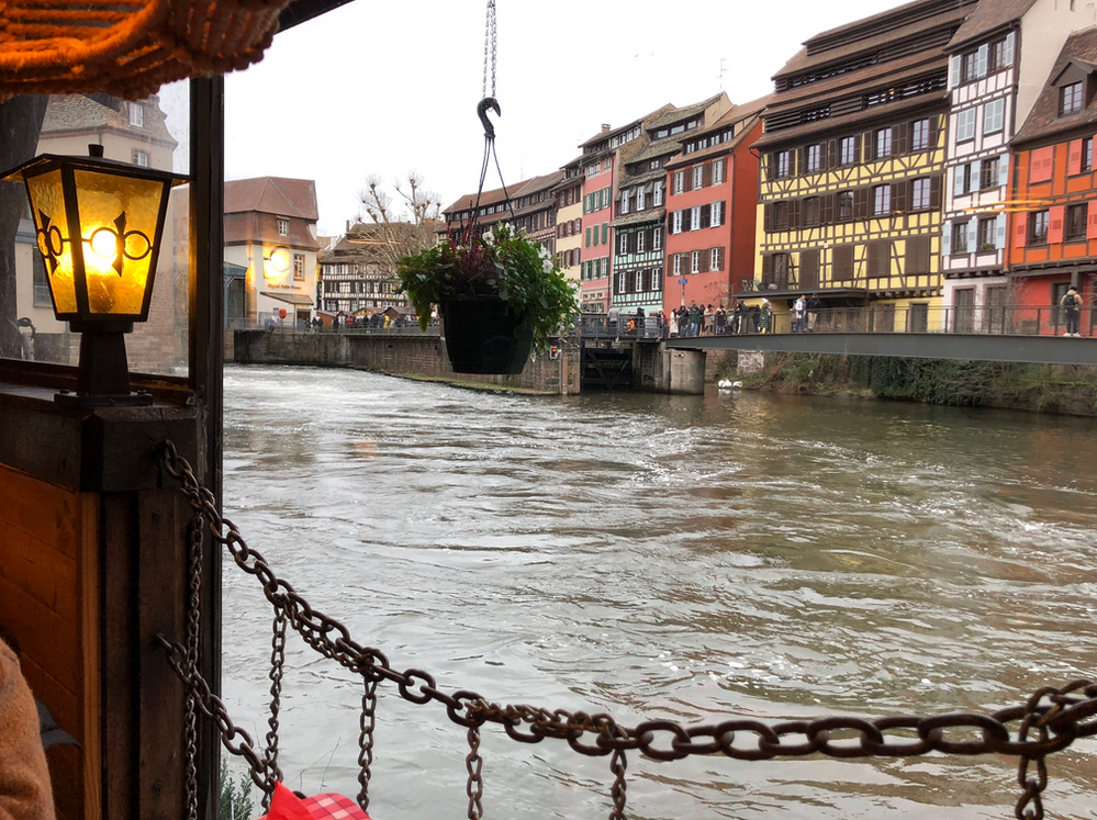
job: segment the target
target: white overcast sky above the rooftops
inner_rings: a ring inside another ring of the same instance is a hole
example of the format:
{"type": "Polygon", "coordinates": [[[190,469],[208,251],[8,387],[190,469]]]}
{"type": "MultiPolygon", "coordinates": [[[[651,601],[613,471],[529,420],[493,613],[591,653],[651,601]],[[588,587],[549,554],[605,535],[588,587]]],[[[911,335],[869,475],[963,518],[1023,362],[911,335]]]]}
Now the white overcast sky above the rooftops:
{"type": "MultiPolygon", "coordinates": [[[[557,170],[602,123],[720,90],[737,103],[763,97],[805,40],[899,4],[496,0],[503,181],[557,170]]],[[[370,173],[393,181],[414,170],[443,206],[474,193],[485,9],[356,0],[277,35],[261,63],[226,79],[227,178],[314,179],[322,234],[355,218],[370,173]]],[[[499,184],[492,166],[485,188],[499,184]]]]}

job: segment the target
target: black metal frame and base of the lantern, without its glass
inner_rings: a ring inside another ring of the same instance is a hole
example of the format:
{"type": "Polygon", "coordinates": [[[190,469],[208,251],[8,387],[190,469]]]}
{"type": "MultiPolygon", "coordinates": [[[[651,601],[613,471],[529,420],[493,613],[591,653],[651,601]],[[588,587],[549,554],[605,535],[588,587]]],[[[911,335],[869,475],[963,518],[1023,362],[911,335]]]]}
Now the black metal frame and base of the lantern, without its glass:
{"type": "Polygon", "coordinates": [[[164,237],[164,225],[167,221],[169,193],[172,186],[189,181],[189,177],[103,159],[102,146],[100,145],[90,145],[88,148],[90,153],[88,157],[40,155],[20,167],[0,175],[0,179],[9,182],[22,182],[26,189],[32,212],[34,212],[35,198],[31,190],[32,180],[46,173],[59,172],[67,238],[57,225],[47,224],[47,217],[44,213],[32,213],[37,249],[45,260],[46,274],[49,278],[49,300],[53,304],[54,315],[58,321],[68,322],[72,333],[81,334],[77,393],[74,396],[63,391],[57,394],[56,400],[85,407],[148,405],[153,403],[150,394],[147,392],[133,393],[130,389],[125,334],[133,332],[135,322],[145,322],[148,318],[153,287],[156,282],[160,243],[164,237]],[[80,200],[76,181],[78,172],[117,178],[120,181],[141,180],[159,183],[161,188],[153,236],[149,237],[142,231],[126,231],[128,217],[124,211],[112,226],[98,225],[91,229],[88,236],[85,236],[86,228],[81,224],[80,200]],[[99,236],[105,236],[107,241],[113,241],[115,248],[113,267],[120,277],[127,260],[133,262],[148,258],[148,272],[138,311],[105,313],[91,310],[85,244],[90,246],[99,236]],[[127,240],[131,237],[144,240],[142,252],[133,252],[127,248],[127,240]],[[64,252],[66,245],[69,247],[72,261],[75,311],[59,310],[54,289],[53,277],[57,268],[57,259],[64,252]]]}

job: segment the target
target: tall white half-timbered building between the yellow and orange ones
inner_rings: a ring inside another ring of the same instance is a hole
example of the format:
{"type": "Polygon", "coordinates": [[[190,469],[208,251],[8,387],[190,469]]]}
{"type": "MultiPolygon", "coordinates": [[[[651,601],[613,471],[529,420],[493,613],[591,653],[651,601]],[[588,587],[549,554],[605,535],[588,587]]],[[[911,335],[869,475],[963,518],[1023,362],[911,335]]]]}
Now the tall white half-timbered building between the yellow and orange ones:
{"type": "Polygon", "coordinates": [[[1059,0],[980,0],[949,44],[941,250],[951,330],[993,329],[984,325],[1005,315],[1010,141],[1081,16],[1059,0]]]}

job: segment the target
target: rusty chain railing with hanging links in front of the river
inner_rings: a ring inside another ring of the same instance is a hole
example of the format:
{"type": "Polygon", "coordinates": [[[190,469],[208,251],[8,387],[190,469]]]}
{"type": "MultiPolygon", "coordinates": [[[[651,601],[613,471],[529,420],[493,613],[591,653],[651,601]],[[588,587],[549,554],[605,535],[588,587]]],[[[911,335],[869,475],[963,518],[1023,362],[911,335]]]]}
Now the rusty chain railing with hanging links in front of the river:
{"type": "MultiPolygon", "coordinates": [[[[897,716],[865,719],[830,717],[818,720],[794,720],[765,723],[752,719],[730,719],[706,726],[682,726],[672,720],[646,720],[634,727],[617,724],[604,714],[545,709],[525,705],[501,705],[475,692],[445,692],[435,678],[423,670],[394,669],[379,649],[363,647],[351,638],[338,620],[312,608],[287,581],[275,575],[262,555],[247,546],[236,526],[217,513],[215,499],[201,486],[186,459],[166,442],[163,464],[181,482],[195,520],[208,525],[206,531],[232,554],[236,565],[255,575],[276,611],[276,669],[271,681],[280,689],[280,661],[284,658],[284,632],[279,627],[292,627],[314,650],[360,674],[366,683],[362,698],[359,763],[361,791],[359,805],[368,805],[369,764],[373,760],[373,709],[377,685],[391,683],[402,698],[413,704],[435,703],[445,707],[447,717],[468,729],[470,752],[466,760],[469,772],[468,797],[470,820],[483,815],[481,805],[483,782],[479,753],[480,728],[495,723],[513,740],[539,743],[546,739],[563,740],[580,754],[611,756],[614,775],[611,820],[624,820],[627,766],[626,753],[639,752],[658,761],[674,761],[690,755],[723,754],[742,761],[802,757],[822,754],[829,757],[915,757],[930,752],[952,755],[999,754],[1018,757],[1018,783],[1021,795],[1015,807],[1018,820],[1042,820],[1042,793],[1048,785],[1046,757],[1066,749],[1078,738],[1097,734],[1097,684],[1075,681],[1062,688],[1045,686],[1034,692],[1019,706],[1006,707],[990,715],[952,714],[932,717],[897,716]],[[1009,724],[1017,723],[1014,732],[1009,724]],[[835,734],[840,737],[833,737],[835,734]],[[978,739],[972,739],[978,734],[978,739]]],[[[193,525],[192,525],[193,527],[193,525]]],[[[193,529],[192,529],[193,531],[193,529]]],[[[193,538],[192,538],[193,540],[193,538]]],[[[190,571],[195,566],[194,549],[190,571]]],[[[191,584],[191,606],[197,607],[195,586],[191,584]]],[[[197,669],[197,651],[190,645],[197,634],[194,616],[189,617],[188,645],[160,637],[168,651],[168,661],[187,688],[188,703],[212,718],[222,743],[233,754],[243,756],[255,785],[269,795],[271,777],[277,772],[277,693],[272,690],[273,714],[271,732],[266,740],[267,753],[256,752],[251,737],[235,726],[224,703],[214,695],[197,669]]],[[[273,689],[275,687],[272,687],[273,689]]],[[[188,749],[193,743],[188,731],[188,749]]]]}

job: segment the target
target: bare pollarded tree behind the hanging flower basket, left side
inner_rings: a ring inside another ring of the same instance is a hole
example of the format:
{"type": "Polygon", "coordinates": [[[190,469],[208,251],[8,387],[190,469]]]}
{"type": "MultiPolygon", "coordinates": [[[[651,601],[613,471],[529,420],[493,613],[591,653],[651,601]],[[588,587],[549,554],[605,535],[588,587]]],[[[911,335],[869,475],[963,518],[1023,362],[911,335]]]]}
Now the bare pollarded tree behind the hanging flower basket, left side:
{"type": "MultiPolygon", "coordinates": [[[[415,171],[408,172],[406,180],[394,182],[392,188],[395,198],[381,178],[371,173],[358,199],[365,216],[377,226],[371,233],[382,243],[378,250],[394,269],[398,260],[437,241],[435,229],[441,220],[441,202],[438,194],[423,188],[423,178],[415,171]]],[[[358,220],[363,221],[361,213],[358,220]]]]}

